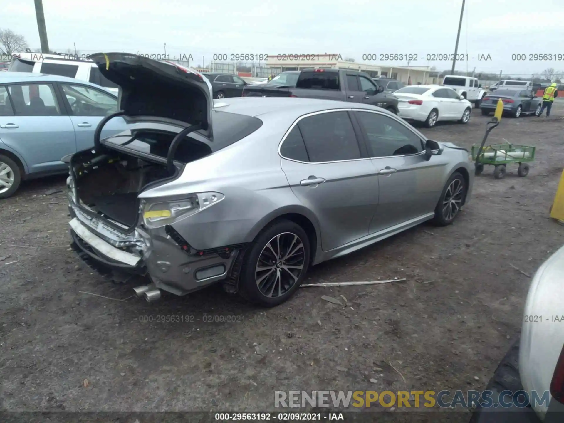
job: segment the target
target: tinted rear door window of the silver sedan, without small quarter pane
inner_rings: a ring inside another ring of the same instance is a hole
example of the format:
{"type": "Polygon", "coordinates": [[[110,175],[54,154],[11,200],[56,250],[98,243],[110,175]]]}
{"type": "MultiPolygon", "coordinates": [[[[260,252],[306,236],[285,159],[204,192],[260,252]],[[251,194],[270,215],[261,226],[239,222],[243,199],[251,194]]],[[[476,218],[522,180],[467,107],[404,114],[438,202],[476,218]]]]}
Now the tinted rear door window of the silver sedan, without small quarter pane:
{"type": "Polygon", "coordinates": [[[354,160],[360,149],[347,112],[328,112],[298,122],[312,163],[354,160]]]}

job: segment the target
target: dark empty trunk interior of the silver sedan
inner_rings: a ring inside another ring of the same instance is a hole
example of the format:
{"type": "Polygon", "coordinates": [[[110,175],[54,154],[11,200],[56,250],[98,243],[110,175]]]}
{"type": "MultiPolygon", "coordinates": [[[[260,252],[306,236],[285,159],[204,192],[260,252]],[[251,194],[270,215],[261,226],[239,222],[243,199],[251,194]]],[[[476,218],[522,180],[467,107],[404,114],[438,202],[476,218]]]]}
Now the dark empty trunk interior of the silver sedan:
{"type": "Polygon", "coordinates": [[[169,178],[166,166],[121,153],[98,157],[104,160],[76,173],[78,199],[100,217],[134,226],[139,218],[139,192],[148,183],[169,178]]]}

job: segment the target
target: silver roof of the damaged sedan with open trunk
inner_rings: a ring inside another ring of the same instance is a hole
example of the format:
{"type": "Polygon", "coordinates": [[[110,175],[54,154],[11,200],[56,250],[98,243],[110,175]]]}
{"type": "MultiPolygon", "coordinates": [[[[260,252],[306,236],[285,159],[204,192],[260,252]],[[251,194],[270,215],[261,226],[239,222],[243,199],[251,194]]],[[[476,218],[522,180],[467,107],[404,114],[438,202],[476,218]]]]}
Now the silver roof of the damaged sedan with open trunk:
{"type": "Polygon", "coordinates": [[[215,100],[214,107],[218,111],[245,114],[246,116],[253,117],[279,112],[293,113],[298,117],[302,116],[302,114],[343,108],[360,108],[390,113],[380,107],[364,103],[290,97],[232,97],[221,99],[221,101],[215,100]]]}

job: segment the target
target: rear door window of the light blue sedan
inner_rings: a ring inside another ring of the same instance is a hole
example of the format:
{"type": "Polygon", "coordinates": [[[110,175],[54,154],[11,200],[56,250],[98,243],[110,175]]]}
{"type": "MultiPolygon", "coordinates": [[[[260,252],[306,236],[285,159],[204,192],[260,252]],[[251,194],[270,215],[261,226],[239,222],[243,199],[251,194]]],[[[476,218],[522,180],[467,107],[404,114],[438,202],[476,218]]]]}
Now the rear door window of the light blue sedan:
{"type": "Polygon", "coordinates": [[[8,86],[16,115],[58,116],[61,114],[51,84],[30,84],[8,86]]]}

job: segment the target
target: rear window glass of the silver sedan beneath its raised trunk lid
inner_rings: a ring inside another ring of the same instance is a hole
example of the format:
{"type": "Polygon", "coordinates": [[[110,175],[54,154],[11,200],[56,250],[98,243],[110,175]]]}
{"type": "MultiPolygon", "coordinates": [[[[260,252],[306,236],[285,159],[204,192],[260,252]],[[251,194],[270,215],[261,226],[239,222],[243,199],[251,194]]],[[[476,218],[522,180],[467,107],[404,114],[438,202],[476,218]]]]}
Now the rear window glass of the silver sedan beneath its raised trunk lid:
{"type": "MultiPolygon", "coordinates": [[[[236,143],[262,126],[262,121],[259,118],[217,111],[213,112],[212,122],[213,141],[209,142],[198,133],[194,137],[189,134],[185,142],[179,144],[174,160],[184,163],[198,160],[236,143]]],[[[170,143],[177,133],[151,129],[151,126],[151,124],[147,124],[143,129],[124,131],[105,139],[104,142],[166,158],[170,143]]],[[[178,132],[180,132],[180,128],[178,128],[178,132]]]]}

